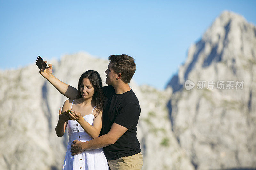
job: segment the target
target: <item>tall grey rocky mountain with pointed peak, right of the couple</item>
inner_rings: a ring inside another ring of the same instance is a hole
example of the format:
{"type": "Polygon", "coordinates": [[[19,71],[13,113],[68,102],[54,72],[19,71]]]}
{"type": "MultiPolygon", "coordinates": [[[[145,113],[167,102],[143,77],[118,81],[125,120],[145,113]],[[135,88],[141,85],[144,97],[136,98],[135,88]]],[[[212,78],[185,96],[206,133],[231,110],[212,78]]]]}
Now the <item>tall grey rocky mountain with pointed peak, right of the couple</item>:
{"type": "Polygon", "coordinates": [[[168,108],[172,131],[196,169],[256,167],[255,71],[256,27],[235,13],[223,12],[189,48],[167,85],[168,108]],[[193,89],[186,90],[186,80],[193,89]],[[208,88],[208,81],[215,84],[208,88]]]}

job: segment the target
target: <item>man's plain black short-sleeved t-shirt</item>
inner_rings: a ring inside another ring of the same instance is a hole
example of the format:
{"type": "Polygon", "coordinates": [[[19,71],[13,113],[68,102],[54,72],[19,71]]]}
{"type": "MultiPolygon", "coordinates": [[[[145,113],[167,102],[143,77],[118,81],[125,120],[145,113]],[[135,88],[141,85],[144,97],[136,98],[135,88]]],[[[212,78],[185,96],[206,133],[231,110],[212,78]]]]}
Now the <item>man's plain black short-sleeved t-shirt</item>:
{"type": "Polygon", "coordinates": [[[128,129],[115,144],[104,147],[107,160],[140,153],[140,143],[136,137],[140,105],[135,93],[130,90],[123,94],[116,94],[111,85],[103,87],[103,92],[105,102],[101,135],[107,134],[114,122],[128,129]]]}

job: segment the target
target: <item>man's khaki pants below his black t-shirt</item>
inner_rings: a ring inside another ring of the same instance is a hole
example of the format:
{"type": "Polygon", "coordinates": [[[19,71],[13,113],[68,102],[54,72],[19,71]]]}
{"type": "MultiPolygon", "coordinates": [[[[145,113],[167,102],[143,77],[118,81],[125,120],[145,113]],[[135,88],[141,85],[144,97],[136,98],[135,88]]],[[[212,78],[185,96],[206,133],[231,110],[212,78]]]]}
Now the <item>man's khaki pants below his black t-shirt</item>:
{"type": "Polygon", "coordinates": [[[142,153],[137,153],[132,156],[124,156],[116,160],[108,160],[108,165],[111,170],[141,170],[143,165],[142,153]]]}

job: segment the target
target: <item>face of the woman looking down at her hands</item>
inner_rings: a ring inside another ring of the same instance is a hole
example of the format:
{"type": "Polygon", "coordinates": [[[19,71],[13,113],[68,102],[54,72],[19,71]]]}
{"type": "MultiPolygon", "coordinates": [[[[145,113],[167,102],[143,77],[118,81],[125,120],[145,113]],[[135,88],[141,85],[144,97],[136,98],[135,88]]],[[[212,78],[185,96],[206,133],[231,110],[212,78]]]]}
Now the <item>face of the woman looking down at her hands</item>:
{"type": "Polygon", "coordinates": [[[84,78],[82,80],[82,83],[80,85],[80,92],[81,92],[82,98],[84,99],[92,98],[94,94],[94,88],[88,78],[84,78]]]}

